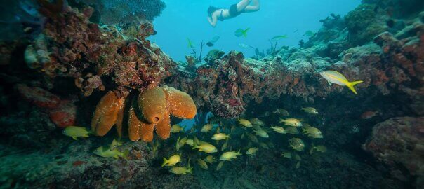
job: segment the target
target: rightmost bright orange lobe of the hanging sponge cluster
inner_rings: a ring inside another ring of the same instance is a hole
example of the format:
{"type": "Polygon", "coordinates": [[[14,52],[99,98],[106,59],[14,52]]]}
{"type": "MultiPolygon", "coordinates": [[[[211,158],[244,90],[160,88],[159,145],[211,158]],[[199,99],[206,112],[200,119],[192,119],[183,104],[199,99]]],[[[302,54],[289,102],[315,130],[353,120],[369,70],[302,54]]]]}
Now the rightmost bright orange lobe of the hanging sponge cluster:
{"type": "Polygon", "coordinates": [[[196,116],[196,104],[194,104],[190,95],[173,87],[164,86],[162,89],[164,90],[166,105],[171,115],[183,119],[192,119],[196,116]]]}

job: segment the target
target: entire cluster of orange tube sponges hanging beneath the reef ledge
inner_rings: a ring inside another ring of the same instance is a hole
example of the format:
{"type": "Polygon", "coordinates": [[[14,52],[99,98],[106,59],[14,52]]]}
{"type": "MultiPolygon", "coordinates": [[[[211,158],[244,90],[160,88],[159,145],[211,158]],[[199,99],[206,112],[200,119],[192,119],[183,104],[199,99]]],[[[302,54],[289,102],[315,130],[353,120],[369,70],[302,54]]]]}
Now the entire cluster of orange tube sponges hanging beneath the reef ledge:
{"type": "MultiPolygon", "coordinates": [[[[113,125],[117,125],[121,137],[125,99],[117,97],[112,91],[100,99],[91,120],[91,130],[95,134],[104,136],[113,125]]],[[[168,139],[171,134],[170,115],[192,119],[197,112],[193,99],[187,93],[168,86],[147,89],[134,97],[128,106],[128,137],[131,141],[152,141],[155,128],[159,138],[168,139]]]]}

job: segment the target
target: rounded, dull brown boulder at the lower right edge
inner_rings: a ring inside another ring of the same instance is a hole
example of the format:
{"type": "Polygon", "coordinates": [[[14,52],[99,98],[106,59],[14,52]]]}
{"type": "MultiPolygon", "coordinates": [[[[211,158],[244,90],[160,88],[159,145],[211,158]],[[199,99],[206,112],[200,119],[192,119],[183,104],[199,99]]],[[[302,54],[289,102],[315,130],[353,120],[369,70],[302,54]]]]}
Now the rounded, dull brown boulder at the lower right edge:
{"type": "Polygon", "coordinates": [[[401,176],[396,173],[406,168],[411,175],[417,176],[416,186],[423,186],[424,117],[391,118],[378,123],[364,149],[390,165],[394,176],[401,176]]]}

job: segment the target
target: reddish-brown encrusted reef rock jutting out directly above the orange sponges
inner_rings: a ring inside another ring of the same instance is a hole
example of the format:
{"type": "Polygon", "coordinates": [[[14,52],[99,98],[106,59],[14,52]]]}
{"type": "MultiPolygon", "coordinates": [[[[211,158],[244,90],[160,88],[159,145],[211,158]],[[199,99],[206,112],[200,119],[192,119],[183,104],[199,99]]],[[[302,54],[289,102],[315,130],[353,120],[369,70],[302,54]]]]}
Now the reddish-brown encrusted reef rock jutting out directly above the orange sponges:
{"type": "Polygon", "coordinates": [[[140,26],[123,31],[90,22],[93,8],[65,6],[52,12],[48,3],[44,6],[44,30],[28,45],[25,60],[29,68],[44,73],[46,80],[74,78],[74,85],[89,96],[107,88],[145,90],[171,76],[176,64],[145,40],[154,33],[145,18],[140,18],[140,26]]]}

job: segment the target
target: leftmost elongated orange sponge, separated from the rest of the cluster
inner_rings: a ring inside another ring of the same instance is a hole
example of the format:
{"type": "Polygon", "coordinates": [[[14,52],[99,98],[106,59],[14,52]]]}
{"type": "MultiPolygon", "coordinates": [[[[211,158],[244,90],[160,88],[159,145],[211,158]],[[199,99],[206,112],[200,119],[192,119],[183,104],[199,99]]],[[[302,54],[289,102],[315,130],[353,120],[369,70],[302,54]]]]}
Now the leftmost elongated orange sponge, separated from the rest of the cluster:
{"type": "Polygon", "coordinates": [[[117,123],[118,113],[124,106],[124,98],[118,98],[113,92],[100,99],[91,119],[91,130],[98,136],[104,136],[117,123]]]}

